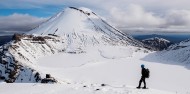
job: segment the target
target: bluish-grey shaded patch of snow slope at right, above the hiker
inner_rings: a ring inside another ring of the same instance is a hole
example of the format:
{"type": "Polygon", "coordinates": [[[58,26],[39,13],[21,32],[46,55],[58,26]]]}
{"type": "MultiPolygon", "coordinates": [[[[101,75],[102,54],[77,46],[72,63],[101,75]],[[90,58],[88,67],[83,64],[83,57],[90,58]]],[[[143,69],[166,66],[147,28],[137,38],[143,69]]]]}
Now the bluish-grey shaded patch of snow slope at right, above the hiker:
{"type": "Polygon", "coordinates": [[[152,63],[180,65],[190,70],[190,64],[184,63],[184,62],[176,62],[172,58],[167,58],[162,54],[163,54],[163,51],[152,52],[146,55],[145,57],[141,58],[140,60],[152,62],[152,63]]]}

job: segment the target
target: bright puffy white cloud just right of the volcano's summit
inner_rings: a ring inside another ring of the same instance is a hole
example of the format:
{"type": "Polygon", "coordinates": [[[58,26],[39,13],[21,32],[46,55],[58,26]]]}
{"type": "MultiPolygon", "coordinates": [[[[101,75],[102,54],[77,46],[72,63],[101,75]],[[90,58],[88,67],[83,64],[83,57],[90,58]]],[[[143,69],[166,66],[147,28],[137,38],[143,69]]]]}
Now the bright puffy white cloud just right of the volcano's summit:
{"type": "Polygon", "coordinates": [[[119,27],[161,27],[165,20],[152,12],[145,11],[139,5],[130,5],[126,10],[112,8],[110,10],[111,19],[119,27]]]}

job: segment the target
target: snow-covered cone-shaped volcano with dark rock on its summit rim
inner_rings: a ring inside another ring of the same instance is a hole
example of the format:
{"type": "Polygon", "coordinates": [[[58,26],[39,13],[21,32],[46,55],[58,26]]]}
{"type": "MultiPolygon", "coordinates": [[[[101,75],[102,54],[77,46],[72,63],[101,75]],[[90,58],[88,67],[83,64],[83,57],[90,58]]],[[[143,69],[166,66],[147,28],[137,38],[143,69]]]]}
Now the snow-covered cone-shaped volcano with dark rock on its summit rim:
{"type": "Polygon", "coordinates": [[[143,46],[87,8],[66,8],[28,34],[58,35],[83,46],[101,43],[143,46]]]}

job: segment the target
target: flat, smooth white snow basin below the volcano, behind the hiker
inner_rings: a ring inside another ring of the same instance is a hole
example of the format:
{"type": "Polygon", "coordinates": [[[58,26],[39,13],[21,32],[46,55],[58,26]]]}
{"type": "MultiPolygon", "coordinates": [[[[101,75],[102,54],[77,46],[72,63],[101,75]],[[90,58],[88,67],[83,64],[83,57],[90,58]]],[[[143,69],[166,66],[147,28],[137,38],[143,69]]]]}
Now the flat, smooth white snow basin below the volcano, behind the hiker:
{"type": "Polygon", "coordinates": [[[40,71],[50,73],[60,82],[108,84],[120,88],[123,86],[135,88],[141,76],[140,65],[145,64],[151,73],[147,79],[147,87],[179,94],[190,91],[190,85],[186,82],[190,79],[190,75],[187,75],[190,70],[183,66],[163,64],[164,61],[161,60],[147,61],[145,56],[154,52],[144,52],[130,46],[89,47],[86,53],[56,54],[39,59],[37,64],[40,71]]]}

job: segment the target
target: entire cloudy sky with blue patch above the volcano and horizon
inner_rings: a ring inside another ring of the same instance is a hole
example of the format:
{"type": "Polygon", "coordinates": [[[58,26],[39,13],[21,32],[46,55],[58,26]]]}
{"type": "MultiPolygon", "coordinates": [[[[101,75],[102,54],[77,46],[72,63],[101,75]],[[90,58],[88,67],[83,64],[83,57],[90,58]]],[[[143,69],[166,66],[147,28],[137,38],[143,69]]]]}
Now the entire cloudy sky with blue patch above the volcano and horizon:
{"type": "Polygon", "coordinates": [[[0,34],[27,32],[68,6],[87,7],[122,30],[190,32],[189,0],[1,0],[0,34]]]}

